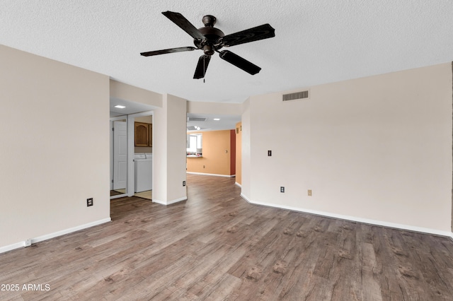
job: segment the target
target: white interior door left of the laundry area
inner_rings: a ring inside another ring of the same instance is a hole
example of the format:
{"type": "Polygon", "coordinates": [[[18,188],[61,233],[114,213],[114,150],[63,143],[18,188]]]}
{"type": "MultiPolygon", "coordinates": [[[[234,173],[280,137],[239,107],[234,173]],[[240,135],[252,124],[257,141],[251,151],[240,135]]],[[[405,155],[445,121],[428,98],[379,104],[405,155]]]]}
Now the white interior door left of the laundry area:
{"type": "Polygon", "coordinates": [[[113,122],[113,189],[127,184],[127,124],[113,122]]]}

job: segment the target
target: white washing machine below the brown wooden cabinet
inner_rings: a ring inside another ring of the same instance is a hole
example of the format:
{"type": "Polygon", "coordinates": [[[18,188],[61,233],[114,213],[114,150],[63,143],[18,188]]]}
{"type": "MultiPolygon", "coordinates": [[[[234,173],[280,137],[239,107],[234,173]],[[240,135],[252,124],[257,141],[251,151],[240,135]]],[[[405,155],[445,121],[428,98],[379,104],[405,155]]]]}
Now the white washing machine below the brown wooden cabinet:
{"type": "Polygon", "coordinates": [[[153,154],[134,154],[134,192],[153,189],[153,154]]]}

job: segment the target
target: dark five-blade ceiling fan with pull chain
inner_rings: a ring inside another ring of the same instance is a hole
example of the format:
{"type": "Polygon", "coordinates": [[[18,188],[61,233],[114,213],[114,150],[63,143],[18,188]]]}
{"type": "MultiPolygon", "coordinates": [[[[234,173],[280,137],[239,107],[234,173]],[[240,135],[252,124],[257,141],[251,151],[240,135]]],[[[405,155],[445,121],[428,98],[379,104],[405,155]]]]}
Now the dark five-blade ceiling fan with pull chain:
{"type": "Polygon", "coordinates": [[[228,61],[230,64],[242,69],[254,75],[260,72],[261,68],[252,64],[250,61],[239,57],[239,55],[230,52],[229,50],[219,51],[222,47],[230,47],[243,43],[268,39],[269,37],[275,37],[275,29],[269,24],[263,24],[254,28],[239,31],[238,33],[231,33],[230,35],[224,35],[222,30],[214,28],[216,18],[211,15],[204,16],[202,18],[203,28],[195,28],[183,15],[172,11],[162,12],[164,16],[173,21],[182,30],[193,37],[195,47],[177,47],[170,49],[162,49],[151,52],[140,53],[144,57],[150,57],[153,55],[173,53],[173,52],[185,52],[192,51],[195,49],[202,49],[204,54],[198,59],[197,67],[195,68],[195,74],[193,78],[204,78],[207,70],[207,66],[210,63],[210,59],[214,52],[219,53],[219,57],[228,61]]]}

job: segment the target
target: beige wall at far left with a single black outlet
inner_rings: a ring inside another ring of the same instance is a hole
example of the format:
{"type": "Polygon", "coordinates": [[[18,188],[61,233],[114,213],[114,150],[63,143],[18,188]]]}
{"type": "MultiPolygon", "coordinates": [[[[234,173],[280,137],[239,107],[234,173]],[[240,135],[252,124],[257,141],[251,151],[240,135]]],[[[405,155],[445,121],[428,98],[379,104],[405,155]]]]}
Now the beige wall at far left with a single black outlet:
{"type": "Polygon", "coordinates": [[[108,76],[3,45],[0,66],[0,251],[110,220],[108,76]]]}

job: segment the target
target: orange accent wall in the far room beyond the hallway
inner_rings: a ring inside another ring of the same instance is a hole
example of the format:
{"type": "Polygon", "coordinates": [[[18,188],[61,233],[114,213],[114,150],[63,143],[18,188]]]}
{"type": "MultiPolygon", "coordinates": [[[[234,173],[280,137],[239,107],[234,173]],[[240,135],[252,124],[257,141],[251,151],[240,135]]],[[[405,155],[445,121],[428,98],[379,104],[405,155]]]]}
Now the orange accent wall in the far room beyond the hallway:
{"type": "MultiPolygon", "coordinates": [[[[187,158],[187,171],[214,175],[234,175],[236,170],[236,134],[234,130],[203,131],[200,133],[203,134],[203,156],[201,158],[187,158]]],[[[190,134],[195,133],[191,132],[190,134]]]]}

